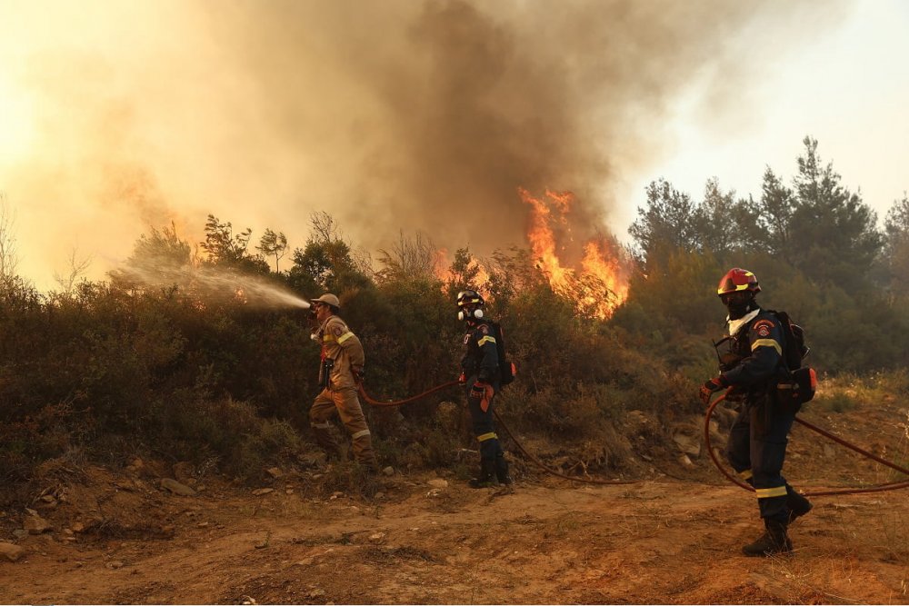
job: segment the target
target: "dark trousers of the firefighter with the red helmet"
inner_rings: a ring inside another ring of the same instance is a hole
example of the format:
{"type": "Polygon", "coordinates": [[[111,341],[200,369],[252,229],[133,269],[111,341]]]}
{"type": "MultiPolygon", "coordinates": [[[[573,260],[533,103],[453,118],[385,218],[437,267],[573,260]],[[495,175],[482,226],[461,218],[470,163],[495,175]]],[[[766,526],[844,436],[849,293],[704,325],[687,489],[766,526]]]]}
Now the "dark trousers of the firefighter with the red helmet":
{"type": "Polygon", "coordinates": [[[726,457],[735,472],[754,486],[761,517],[786,524],[786,495],[794,490],[783,477],[783,462],[798,411],[765,394],[748,398],[741,406],[729,431],[726,457]]]}

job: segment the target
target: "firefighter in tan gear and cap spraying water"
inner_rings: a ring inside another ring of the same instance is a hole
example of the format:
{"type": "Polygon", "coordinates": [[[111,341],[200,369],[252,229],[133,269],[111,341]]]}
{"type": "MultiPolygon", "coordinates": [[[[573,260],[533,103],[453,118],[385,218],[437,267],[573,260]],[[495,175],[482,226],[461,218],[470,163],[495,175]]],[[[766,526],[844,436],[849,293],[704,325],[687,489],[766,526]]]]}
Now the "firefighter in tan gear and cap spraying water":
{"type": "Polygon", "coordinates": [[[334,294],[323,294],[310,303],[319,323],[313,339],[322,345],[319,383],[323,389],[309,409],[309,422],[315,440],[329,457],[339,456],[338,445],[328,421],[336,410],[347,432],[351,434],[356,462],[375,471],[377,463],[369,427],[366,426],[363,409],[356,397],[356,380],[362,376],[365,362],[363,345],[347,328],[345,321],[338,317],[341,303],[334,294]]]}

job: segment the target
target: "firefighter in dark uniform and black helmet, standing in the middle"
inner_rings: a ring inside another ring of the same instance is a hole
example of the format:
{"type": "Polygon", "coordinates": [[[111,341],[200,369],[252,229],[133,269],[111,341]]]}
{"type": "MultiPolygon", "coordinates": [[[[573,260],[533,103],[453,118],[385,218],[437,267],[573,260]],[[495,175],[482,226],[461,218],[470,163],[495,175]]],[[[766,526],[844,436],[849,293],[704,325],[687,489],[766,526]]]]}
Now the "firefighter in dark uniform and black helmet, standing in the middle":
{"type": "Polygon", "coordinates": [[[484,318],[485,302],[480,293],[461,291],[457,307],[458,320],[467,324],[459,381],[465,386],[474,436],[480,442],[480,472],[470,486],[485,488],[495,482],[508,485],[512,483],[508,462],[493,424],[493,400],[501,388],[494,326],[484,318]]]}

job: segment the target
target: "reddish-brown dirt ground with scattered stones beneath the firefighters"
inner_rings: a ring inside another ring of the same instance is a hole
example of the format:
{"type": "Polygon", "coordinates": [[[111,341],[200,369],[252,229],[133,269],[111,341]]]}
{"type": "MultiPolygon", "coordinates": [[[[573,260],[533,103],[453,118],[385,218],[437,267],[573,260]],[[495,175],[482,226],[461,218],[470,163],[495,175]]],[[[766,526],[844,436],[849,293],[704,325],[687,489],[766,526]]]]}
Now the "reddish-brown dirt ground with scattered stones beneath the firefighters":
{"type": "MultiPolygon", "coordinates": [[[[905,462],[904,409],[805,418],[905,462]]],[[[800,488],[895,479],[804,428],[790,453],[800,488]]],[[[524,472],[513,491],[395,472],[369,497],[320,493],[313,471],[178,496],[152,465],[71,470],[35,498],[47,531],[0,517],[23,549],[0,560],[0,602],[909,603],[907,491],[819,497],[793,556],[752,559],[753,496],[694,467],[611,486],[524,472]]]]}

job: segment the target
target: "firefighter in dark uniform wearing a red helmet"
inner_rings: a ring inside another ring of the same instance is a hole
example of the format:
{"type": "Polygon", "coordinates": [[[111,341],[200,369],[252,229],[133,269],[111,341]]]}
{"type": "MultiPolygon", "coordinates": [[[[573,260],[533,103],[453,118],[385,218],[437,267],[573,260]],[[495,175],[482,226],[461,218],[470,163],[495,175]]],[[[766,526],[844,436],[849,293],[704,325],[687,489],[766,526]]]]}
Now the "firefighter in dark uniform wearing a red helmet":
{"type": "Polygon", "coordinates": [[[782,475],[787,435],[797,412],[776,395],[785,372],[783,328],[774,313],[762,310],[754,300],[761,292],[754,273],[731,269],[716,292],[729,311],[727,338],[718,346],[721,373],[704,383],[701,398],[708,403],[714,392],[731,388],[726,399],[740,406],[726,457],[735,472],[754,486],[765,528],[742,551],[749,556],[788,553],[792,541],[787,528],[812,505],[782,475]]]}

